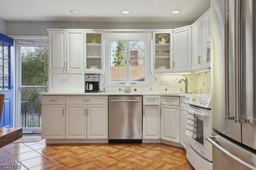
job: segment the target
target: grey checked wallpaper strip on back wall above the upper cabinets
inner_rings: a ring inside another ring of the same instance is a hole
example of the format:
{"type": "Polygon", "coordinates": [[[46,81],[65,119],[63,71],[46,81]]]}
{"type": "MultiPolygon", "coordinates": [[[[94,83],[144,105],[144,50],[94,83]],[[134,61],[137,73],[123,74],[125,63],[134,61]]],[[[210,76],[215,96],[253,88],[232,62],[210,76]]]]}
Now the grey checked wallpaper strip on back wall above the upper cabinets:
{"type": "MultiPolygon", "coordinates": [[[[1,22],[1,20],[0,20],[1,22]]],[[[1,23],[0,23],[1,24],[1,23]]],[[[72,21],[6,21],[9,36],[48,36],[54,29],[174,29],[192,22],[72,22],[72,21]]],[[[0,25],[0,28],[2,26],[0,25]]]]}

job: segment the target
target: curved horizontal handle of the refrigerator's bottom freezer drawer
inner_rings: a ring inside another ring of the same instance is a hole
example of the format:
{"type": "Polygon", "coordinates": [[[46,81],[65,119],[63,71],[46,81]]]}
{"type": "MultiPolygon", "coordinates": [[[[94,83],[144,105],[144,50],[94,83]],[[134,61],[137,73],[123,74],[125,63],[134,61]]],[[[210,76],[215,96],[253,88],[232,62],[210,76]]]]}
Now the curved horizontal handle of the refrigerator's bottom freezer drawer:
{"type": "Polygon", "coordinates": [[[234,156],[233,154],[231,154],[230,152],[228,152],[228,150],[222,148],[222,146],[220,146],[217,142],[216,142],[216,136],[212,136],[212,137],[206,137],[206,140],[208,140],[211,144],[213,144],[216,148],[218,148],[220,151],[224,152],[226,155],[230,156],[231,158],[233,158],[234,160],[240,162],[241,164],[243,164],[244,166],[247,166],[248,168],[251,168],[252,170],[256,170],[256,168],[246,162],[244,162],[243,160],[241,160],[240,158],[234,156]]]}

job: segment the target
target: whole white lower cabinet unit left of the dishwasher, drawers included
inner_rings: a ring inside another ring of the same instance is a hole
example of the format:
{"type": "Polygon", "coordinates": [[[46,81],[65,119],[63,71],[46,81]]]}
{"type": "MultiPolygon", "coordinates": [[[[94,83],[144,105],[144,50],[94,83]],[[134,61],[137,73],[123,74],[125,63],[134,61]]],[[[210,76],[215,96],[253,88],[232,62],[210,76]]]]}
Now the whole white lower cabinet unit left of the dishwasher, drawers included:
{"type": "Polygon", "coordinates": [[[108,138],[107,99],[107,96],[43,96],[42,138],[108,138]]]}

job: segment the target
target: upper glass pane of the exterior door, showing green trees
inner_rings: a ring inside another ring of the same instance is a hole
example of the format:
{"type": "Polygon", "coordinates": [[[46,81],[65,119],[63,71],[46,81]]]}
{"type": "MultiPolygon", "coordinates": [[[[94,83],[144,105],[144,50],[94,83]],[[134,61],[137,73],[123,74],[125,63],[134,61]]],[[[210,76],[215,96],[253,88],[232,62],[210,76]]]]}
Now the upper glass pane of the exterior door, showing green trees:
{"type": "Polygon", "coordinates": [[[21,85],[48,85],[48,47],[21,47],[21,85]]]}

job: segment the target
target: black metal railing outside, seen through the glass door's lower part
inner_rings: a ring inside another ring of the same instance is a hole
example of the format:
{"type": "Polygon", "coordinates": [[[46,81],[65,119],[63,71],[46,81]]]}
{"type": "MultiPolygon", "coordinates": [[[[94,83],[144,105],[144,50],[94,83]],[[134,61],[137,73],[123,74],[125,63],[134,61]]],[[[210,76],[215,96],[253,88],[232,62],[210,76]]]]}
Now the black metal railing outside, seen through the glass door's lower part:
{"type": "Polygon", "coordinates": [[[21,102],[20,127],[41,127],[41,113],[29,101],[21,102]]]}

